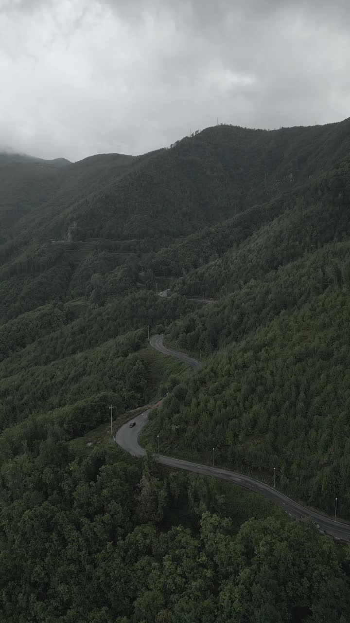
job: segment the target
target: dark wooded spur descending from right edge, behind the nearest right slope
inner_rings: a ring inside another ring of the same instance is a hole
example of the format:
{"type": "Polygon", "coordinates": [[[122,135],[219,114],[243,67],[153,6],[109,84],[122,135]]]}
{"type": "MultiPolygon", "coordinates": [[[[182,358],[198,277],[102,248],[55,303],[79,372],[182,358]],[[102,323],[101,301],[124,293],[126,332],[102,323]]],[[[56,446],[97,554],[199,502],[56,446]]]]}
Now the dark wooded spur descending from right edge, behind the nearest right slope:
{"type": "Polygon", "coordinates": [[[230,287],[231,278],[257,276],[258,264],[266,272],[300,253],[346,238],[349,184],[349,161],[343,159],[300,188],[159,250],[151,257],[151,268],[172,277],[186,273],[176,283],[183,293],[217,294],[222,286],[230,287]]]}

